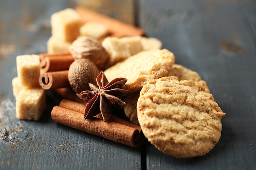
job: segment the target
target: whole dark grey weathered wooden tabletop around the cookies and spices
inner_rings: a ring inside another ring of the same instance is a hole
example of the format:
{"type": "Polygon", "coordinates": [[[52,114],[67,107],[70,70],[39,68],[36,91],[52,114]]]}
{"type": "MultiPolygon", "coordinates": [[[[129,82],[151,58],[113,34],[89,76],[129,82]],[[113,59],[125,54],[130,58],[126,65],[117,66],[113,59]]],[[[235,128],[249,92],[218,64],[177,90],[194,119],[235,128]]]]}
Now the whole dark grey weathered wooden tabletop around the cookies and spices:
{"type": "Polygon", "coordinates": [[[50,111],[59,99],[51,94],[42,119],[17,119],[11,86],[17,76],[16,56],[45,53],[51,35],[50,16],[78,2],[0,0],[1,170],[256,169],[253,0],[129,1],[135,3],[135,24],[161,40],[163,47],[175,54],[176,63],[197,71],[226,113],[220,141],[207,155],[176,159],[147,141],[140,148],[130,148],[57,124],[50,111]]]}

